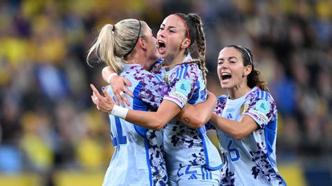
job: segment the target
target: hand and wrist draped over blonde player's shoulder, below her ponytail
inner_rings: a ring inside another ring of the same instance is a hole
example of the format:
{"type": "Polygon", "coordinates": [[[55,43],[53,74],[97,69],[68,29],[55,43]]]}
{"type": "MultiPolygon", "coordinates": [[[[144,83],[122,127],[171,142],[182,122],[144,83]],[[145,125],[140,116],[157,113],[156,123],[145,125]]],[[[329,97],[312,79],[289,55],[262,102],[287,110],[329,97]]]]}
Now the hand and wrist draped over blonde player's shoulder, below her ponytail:
{"type": "Polygon", "coordinates": [[[116,96],[116,105],[124,105],[126,103],[128,106],[130,105],[125,94],[120,95],[120,92],[124,92],[129,96],[133,97],[133,93],[125,86],[131,86],[130,81],[127,78],[121,76],[112,76],[109,79],[109,75],[115,73],[111,67],[107,66],[102,69],[102,79],[109,83],[112,87],[113,93],[116,96]]]}

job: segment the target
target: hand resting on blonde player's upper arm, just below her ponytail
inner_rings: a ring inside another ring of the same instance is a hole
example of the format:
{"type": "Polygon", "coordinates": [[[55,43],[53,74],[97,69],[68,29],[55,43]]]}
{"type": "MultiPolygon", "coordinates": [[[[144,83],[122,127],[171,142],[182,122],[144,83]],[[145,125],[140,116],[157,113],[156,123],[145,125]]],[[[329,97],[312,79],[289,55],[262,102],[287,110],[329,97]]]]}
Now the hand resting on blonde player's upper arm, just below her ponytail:
{"type": "Polygon", "coordinates": [[[133,93],[125,85],[130,87],[130,81],[122,76],[113,76],[110,81],[113,94],[116,96],[116,105],[119,105],[120,103],[123,106],[125,102],[129,106],[130,103],[125,94],[133,97],[133,93]]]}

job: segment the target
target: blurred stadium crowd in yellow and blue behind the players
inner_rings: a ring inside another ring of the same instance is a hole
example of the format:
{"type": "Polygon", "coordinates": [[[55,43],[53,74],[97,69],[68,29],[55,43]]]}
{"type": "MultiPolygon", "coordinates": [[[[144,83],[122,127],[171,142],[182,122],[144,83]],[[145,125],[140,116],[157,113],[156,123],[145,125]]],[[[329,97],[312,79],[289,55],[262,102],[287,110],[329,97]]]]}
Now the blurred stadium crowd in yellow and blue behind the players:
{"type": "Polygon", "coordinates": [[[154,34],[171,13],[197,12],[207,37],[208,89],[223,94],[216,58],[250,48],[279,110],[278,161],[332,155],[332,1],[0,1],[0,172],[107,166],[109,121],[89,83],[86,52],[104,23],[136,18],[154,34]]]}

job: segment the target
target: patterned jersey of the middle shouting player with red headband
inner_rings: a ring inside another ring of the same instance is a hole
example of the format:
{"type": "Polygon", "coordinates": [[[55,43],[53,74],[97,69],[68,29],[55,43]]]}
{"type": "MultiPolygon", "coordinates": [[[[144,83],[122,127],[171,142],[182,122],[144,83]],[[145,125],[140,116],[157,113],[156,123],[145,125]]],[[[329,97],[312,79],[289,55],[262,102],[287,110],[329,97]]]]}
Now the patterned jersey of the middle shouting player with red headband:
{"type": "MultiPolygon", "coordinates": [[[[188,55],[184,61],[191,60],[188,55]]],[[[156,74],[163,76],[169,89],[164,99],[183,108],[186,103],[196,104],[205,101],[205,83],[201,70],[195,63],[177,65],[172,70],[161,68],[156,74]]],[[[175,118],[163,130],[166,165],[171,169],[185,166],[203,165],[208,169],[220,169],[223,165],[218,149],[214,147],[205,127],[191,129],[175,118]]]]}

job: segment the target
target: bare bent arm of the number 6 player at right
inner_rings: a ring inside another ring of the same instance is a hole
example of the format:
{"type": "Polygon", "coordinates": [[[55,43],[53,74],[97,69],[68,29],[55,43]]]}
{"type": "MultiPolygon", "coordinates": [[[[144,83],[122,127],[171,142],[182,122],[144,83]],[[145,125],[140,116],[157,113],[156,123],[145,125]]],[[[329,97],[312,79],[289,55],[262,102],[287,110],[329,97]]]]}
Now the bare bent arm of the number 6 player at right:
{"type": "Polygon", "coordinates": [[[237,140],[243,139],[259,128],[256,121],[247,115],[243,115],[241,121],[232,121],[213,113],[210,121],[216,128],[237,140]]]}

